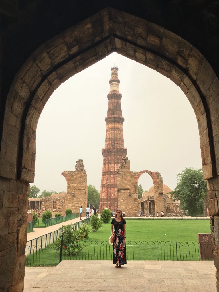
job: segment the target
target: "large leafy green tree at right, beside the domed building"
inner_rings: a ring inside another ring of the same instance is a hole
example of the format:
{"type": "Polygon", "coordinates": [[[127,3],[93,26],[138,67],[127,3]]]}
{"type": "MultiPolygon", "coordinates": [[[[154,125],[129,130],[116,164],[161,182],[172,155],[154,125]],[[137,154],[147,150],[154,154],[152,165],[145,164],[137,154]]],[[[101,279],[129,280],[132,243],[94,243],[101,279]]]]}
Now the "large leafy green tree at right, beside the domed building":
{"type": "Polygon", "coordinates": [[[185,168],[177,175],[175,190],[170,192],[171,198],[180,200],[181,208],[188,215],[203,213],[204,197],[207,195],[206,180],[203,178],[202,169],[185,168]]]}

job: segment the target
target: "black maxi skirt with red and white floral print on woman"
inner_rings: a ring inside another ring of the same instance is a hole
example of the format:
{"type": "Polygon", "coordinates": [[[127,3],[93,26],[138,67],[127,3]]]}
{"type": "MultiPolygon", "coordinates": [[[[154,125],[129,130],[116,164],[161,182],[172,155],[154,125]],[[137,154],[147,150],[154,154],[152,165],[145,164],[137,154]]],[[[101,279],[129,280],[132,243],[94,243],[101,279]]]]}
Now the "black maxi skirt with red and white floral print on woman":
{"type": "MultiPolygon", "coordinates": [[[[116,229],[114,229],[115,235],[116,229]]],[[[113,244],[113,263],[116,264],[119,261],[119,265],[126,265],[126,244],[123,245],[124,231],[122,229],[117,230],[115,241],[113,244]]]]}

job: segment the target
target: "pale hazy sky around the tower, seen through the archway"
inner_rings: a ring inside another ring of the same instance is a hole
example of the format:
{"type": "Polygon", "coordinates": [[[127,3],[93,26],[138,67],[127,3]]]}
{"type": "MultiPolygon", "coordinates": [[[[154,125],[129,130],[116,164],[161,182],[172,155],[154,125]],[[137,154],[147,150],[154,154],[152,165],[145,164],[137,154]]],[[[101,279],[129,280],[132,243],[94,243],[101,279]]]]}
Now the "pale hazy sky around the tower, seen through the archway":
{"type": "MultiPolygon", "coordinates": [[[[185,94],[170,79],[117,53],[74,75],[49,98],[36,131],[34,185],[67,190],[64,170],[83,159],[88,184],[100,191],[111,66],[119,67],[124,145],[132,171],[159,171],[173,190],[176,174],[201,168],[197,120],[185,94]]],[[[144,190],[150,175],[140,176],[144,190]]],[[[32,185],[32,184],[31,184],[32,185]]]]}

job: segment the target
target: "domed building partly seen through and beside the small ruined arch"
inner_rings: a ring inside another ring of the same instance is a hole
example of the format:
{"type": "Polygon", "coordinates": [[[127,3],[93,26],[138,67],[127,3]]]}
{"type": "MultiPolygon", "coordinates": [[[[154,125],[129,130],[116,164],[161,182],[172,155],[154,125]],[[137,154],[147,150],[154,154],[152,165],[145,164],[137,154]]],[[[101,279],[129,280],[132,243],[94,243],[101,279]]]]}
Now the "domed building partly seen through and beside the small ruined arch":
{"type": "MultiPolygon", "coordinates": [[[[163,196],[164,196],[164,214],[165,215],[181,215],[180,201],[173,201],[171,199],[171,189],[163,184],[163,196]]],[[[145,215],[155,215],[154,210],[154,185],[150,187],[148,192],[142,193],[142,198],[139,201],[139,209],[145,215]]],[[[160,214],[159,214],[160,216],[160,214]]]]}

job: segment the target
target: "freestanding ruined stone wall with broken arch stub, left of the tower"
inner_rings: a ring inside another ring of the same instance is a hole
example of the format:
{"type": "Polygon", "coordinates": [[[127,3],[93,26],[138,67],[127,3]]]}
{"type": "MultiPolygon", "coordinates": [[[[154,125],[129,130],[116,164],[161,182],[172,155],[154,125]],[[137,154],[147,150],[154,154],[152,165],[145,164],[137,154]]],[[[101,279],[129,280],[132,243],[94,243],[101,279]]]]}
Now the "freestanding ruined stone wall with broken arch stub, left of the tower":
{"type": "Polygon", "coordinates": [[[79,159],[77,161],[75,171],[66,170],[61,174],[67,181],[67,208],[72,209],[72,213],[79,213],[79,208],[82,206],[82,216],[85,216],[85,208],[87,207],[87,174],[84,169],[83,160],[79,159]]]}

